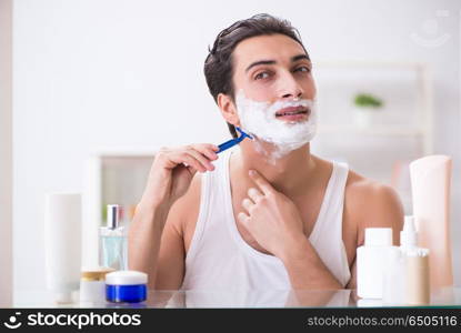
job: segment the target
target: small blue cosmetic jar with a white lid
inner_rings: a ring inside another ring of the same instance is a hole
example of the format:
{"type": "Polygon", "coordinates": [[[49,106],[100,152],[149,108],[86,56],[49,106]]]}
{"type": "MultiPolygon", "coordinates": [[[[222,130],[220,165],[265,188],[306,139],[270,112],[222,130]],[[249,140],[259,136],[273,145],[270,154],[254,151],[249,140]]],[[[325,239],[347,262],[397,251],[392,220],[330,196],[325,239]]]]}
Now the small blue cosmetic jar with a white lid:
{"type": "Polygon", "coordinates": [[[106,275],[106,300],[113,303],[139,303],[147,299],[148,274],[117,271],[106,275]]]}

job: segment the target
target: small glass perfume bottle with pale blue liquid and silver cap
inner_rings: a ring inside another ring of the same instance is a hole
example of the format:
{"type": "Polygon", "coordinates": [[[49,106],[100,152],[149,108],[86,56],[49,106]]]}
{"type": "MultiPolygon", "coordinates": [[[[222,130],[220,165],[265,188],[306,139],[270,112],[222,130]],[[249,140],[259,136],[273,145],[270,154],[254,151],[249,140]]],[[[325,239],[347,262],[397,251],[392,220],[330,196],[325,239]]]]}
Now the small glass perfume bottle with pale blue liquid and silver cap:
{"type": "Polygon", "coordinates": [[[120,206],[108,204],[107,226],[100,228],[100,264],[117,271],[128,269],[127,235],[119,223],[120,206]]]}

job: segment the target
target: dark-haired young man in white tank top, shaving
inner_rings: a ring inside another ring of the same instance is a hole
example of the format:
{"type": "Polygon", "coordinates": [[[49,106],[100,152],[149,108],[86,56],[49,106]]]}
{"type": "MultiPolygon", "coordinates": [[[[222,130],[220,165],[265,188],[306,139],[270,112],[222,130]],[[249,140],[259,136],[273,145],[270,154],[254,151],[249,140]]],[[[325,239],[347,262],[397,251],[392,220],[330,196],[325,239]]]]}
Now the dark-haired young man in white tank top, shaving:
{"type": "Polygon", "coordinates": [[[260,14],[218,36],[210,92],[232,135],[255,138],[219,155],[213,144],[157,153],[129,234],[129,266],[150,287],[354,289],[364,229],[392,228],[399,242],[395,192],[310,153],[311,68],[287,21],[260,14]]]}

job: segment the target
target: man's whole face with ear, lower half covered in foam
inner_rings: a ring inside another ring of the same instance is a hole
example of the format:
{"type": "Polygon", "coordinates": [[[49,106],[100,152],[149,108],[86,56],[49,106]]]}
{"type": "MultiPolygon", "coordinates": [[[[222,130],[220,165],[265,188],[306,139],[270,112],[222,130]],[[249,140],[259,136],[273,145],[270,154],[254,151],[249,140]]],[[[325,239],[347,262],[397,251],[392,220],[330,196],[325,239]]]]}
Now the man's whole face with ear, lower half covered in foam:
{"type": "Polygon", "coordinates": [[[284,34],[241,41],[233,51],[234,99],[218,95],[224,119],[275,160],[315,134],[315,84],[303,48],[284,34]]]}

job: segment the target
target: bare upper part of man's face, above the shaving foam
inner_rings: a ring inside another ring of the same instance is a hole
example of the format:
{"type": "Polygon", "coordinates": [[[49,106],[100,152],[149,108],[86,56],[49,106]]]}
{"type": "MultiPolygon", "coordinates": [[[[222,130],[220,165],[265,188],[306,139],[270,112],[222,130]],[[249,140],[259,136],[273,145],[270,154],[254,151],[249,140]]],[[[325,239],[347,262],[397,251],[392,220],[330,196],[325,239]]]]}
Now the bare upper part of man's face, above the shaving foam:
{"type": "Polygon", "coordinates": [[[302,47],[284,34],[258,36],[233,51],[233,87],[248,99],[273,103],[315,98],[312,64],[302,47]]]}

